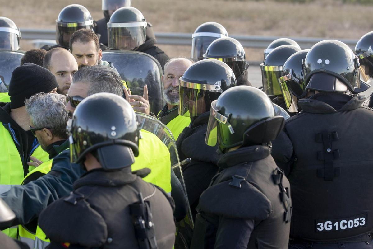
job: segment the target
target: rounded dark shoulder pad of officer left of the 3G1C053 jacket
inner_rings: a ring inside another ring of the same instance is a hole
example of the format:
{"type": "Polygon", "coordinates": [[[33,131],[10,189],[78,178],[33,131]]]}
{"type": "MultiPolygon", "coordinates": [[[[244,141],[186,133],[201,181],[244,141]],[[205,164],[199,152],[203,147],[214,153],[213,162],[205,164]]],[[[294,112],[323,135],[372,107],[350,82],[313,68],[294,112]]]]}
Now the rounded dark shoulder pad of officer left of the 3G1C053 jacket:
{"type": "Polygon", "coordinates": [[[200,197],[201,211],[232,219],[261,221],[272,212],[270,200],[247,181],[241,188],[231,186],[231,180],[213,185],[200,197]]]}

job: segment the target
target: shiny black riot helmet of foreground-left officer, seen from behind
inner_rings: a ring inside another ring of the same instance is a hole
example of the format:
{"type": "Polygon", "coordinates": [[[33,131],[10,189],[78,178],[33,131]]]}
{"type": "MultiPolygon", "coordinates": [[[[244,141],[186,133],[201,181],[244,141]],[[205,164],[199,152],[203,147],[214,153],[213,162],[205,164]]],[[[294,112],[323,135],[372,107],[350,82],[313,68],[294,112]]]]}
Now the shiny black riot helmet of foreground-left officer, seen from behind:
{"type": "Polygon", "coordinates": [[[90,152],[110,170],[130,166],[138,156],[135,112],[116,94],[96,93],[82,100],[69,120],[68,133],[72,163],[84,162],[90,152]]]}

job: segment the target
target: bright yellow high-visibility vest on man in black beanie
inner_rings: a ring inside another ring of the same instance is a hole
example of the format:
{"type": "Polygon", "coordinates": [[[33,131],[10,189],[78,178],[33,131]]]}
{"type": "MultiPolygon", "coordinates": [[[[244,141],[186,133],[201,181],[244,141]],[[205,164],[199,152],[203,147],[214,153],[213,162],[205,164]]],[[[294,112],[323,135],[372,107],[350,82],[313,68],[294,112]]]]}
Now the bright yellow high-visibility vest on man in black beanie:
{"type": "MultiPolygon", "coordinates": [[[[21,183],[25,175],[23,172],[22,158],[15,145],[15,143],[18,144],[18,141],[14,131],[10,127],[10,124],[0,123],[0,138],[0,186],[1,189],[6,192],[10,189],[11,185],[18,185],[19,183],[21,183]],[[4,125],[9,128],[12,134],[9,133],[4,125]]],[[[37,143],[36,138],[32,146],[33,149],[30,153],[32,156],[43,162],[49,160],[48,153],[41,149],[39,143],[37,143]]],[[[34,168],[34,166],[29,166],[29,171],[34,168]]],[[[3,232],[13,239],[16,239],[17,237],[16,228],[6,229],[3,232]]]]}

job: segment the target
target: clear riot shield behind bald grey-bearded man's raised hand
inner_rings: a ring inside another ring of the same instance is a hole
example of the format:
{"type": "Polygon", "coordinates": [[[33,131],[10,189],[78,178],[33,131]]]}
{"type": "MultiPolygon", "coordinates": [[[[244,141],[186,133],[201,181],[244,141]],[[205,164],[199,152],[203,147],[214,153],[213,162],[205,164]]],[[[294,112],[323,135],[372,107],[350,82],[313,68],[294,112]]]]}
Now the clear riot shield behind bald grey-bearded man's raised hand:
{"type": "Polygon", "coordinates": [[[102,60],[114,64],[132,94],[142,96],[144,85],[148,85],[150,111],[158,113],[162,110],[166,103],[162,94],[163,72],[159,62],[153,56],[129,50],[104,51],[102,55],[102,60]]]}

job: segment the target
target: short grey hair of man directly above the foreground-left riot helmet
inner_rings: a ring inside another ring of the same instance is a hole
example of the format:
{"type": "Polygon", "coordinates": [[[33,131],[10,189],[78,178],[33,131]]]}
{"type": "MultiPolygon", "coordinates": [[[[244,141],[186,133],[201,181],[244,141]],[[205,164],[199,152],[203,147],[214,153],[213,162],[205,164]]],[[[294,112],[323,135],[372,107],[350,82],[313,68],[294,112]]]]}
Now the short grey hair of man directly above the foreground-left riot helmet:
{"type": "Polygon", "coordinates": [[[113,93],[122,96],[123,83],[120,75],[104,65],[86,66],[79,69],[72,78],[72,84],[90,85],[87,96],[95,93],[113,93]]]}

